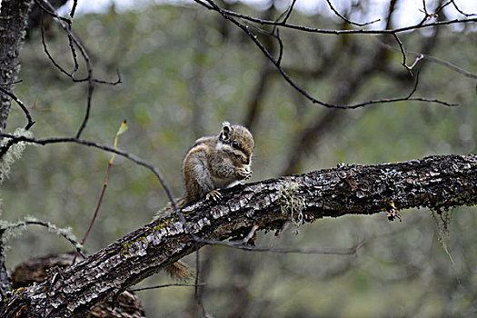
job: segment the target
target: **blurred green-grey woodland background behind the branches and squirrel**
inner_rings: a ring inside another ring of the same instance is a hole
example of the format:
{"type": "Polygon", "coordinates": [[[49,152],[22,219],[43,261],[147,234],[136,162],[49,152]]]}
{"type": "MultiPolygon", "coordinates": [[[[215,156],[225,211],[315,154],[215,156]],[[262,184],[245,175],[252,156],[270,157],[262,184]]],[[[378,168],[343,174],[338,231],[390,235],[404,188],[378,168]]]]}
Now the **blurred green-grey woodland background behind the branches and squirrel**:
{"type": "MultiPolygon", "coordinates": [[[[299,2],[289,22],[326,29],[356,27],[333,15],[324,2],[317,3],[299,2]]],[[[264,19],[276,19],[289,5],[285,1],[217,4],[264,19]]],[[[426,4],[432,12],[443,2],[426,4]]],[[[463,1],[456,4],[462,11],[468,9],[463,1]]],[[[73,31],[91,56],[94,77],[114,82],[117,69],[123,83],[95,85],[83,138],[112,145],[126,119],[129,129],[120,136],[119,148],[158,167],[177,197],[184,192],[181,163],[188,147],[200,136],[218,134],[223,121],[247,125],[253,133],[252,181],[340,163],[379,164],[430,154],[475,153],[475,23],[400,34],[407,50],[435,56],[473,74],[430,59],[420,61],[413,72],[420,72],[415,96],[459,106],[402,102],[341,111],[306,100],[285,83],[250,38],[221,15],[193,2],[118,2],[94,10],[93,6],[87,10],[88,5],[75,16],[73,31]]],[[[336,5],[342,15],[357,22],[382,19],[370,28],[402,26],[409,19],[414,24],[423,16],[409,1],[336,5]]],[[[68,6],[62,10],[67,13],[68,6]]],[[[475,14],[477,9],[466,13],[475,14]]],[[[456,17],[465,18],[449,5],[435,19],[456,17]]],[[[49,50],[60,65],[72,70],[67,36],[55,23],[46,25],[49,50]]],[[[276,56],[276,41],[250,27],[276,56]]],[[[412,90],[415,77],[402,67],[392,35],[280,31],[283,68],[318,99],[352,104],[401,97],[412,90]]],[[[35,26],[28,31],[20,58],[18,77],[23,82],[15,85],[15,94],[34,117],[35,137],[74,136],[83,120],[87,84],[72,83],[55,69],[35,26]]],[[[409,54],[408,65],[414,59],[409,54]]],[[[85,75],[84,63],[79,73],[85,75]]],[[[7,132],[24,125],[25,115],[13,105],[7,132]]],[[[76,237],[83,237],[109,158],[110,154],[76,144],[28,146],[3,184],[3,219],[31,215],[71,227],[76,237]]],[[[149,223],[166,203],[154,174],[116,156],[103,205],[85,243],[87,253],[149,223]]],[[[281,236],[261,233],[256,242],[344,248],[366,239],[356,255],[204,247],[204,307],[216,317],[471,317],[477,311],[476,212],[474,207],[451,212],[447,247],[453,263],[439,243],[442,231],[437,231],[432,213],[424,209],[402,211],[402,223],[391,223],[379,214],[323,219],[298,229],[290,225],[281,236]]],[[[33,228],[9,244],[9,267],[32,256],[71,250],[62,238],[33,228]]],[[[185,262],[194,266],[194,254],[185,262]]],[[[159,273],[138,287],[170,282],[159,273]]],[[[194,288],[137,294],[149,317],[199,315],[194,312],[194,288]]]]}

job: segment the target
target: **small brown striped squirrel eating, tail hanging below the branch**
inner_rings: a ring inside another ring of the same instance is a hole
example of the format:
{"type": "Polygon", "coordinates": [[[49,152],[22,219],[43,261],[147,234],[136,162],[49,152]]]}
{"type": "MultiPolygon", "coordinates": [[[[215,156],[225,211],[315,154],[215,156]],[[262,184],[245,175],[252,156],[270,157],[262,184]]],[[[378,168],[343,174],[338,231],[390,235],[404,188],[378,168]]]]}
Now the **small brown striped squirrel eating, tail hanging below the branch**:
{"type": "MultiPolygon", "coordinates": [[[[223,123],[220,134],[197,139],[184,157],[185,194],[177,201],[177,207],[183,208],[204,195],[207,199],[219,201],[222,194],[218,189],[249,179],[252,176],[253,147],[250,131],[242,125],[228,122],[223,123]]],[[[169,205],[159,214],[173,212],[169,205]]],[[[193,276],[191,269],[182,262],[172,263],[165,270],[179,280],[193,276]]]]}

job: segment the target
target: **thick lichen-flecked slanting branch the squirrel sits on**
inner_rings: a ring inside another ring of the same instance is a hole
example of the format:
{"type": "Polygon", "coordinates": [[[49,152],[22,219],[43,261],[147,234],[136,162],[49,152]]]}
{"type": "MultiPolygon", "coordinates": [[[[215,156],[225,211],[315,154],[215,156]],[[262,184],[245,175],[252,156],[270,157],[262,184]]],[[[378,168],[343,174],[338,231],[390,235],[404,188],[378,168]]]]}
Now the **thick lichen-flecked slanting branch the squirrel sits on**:
{"type": "MultiPolygon", "coordinates": [[[[193,253],[202,239],[224,240],[248,234],[253,225],[278,229],[293,217],[305,222],[324,216],[394,213],[427,207],[436,211],[477,204],[477,155],[431,156],[398,164],[344,165],[222,191],[214,203],[201,200],[184,208],[186,227],[166,216],[125,235],[63,272],[2,303],[0,316],[70,317],[122,293],[164,265],[193,253]],[[51,285],[51,293],[47,291],[51,285]]],[[[405,219],[404,219],[405,220],[405,219]]],[[[203,244],[203,243],[200,243],[203,244]]]]}

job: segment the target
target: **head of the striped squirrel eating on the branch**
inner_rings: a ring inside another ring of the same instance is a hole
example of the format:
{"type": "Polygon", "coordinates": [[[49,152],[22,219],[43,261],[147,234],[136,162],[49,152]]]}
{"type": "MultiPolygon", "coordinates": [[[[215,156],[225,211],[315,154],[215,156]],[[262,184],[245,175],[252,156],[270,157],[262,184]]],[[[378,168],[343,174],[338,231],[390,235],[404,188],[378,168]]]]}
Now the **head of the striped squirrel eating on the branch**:
{"type": "Polygon", "coordinates": [[[229,145],[228,152],[234,154],[234,162],[238,164],[251,164],[253,147],[253,136],[249,130],[240,124],[231,125],[223,123],[222,132],[219,134],[222,144],[229,145]]]}

